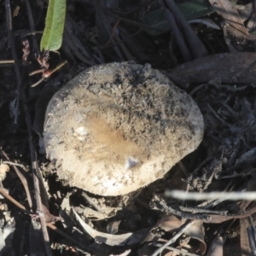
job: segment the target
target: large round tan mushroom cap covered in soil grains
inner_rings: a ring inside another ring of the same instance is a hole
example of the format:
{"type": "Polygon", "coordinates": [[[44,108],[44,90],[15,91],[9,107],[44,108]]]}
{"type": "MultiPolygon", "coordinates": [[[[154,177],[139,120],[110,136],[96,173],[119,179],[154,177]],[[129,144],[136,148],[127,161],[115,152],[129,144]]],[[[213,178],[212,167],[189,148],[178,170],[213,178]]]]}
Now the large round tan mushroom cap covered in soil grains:
{"type": "Polygon", "coordinates": [[[49,102],[44,144],[60,178],[97,195],[125,195],[163,177],[201,143],[193,99],[133,62],[90,67],[49,102]]]}

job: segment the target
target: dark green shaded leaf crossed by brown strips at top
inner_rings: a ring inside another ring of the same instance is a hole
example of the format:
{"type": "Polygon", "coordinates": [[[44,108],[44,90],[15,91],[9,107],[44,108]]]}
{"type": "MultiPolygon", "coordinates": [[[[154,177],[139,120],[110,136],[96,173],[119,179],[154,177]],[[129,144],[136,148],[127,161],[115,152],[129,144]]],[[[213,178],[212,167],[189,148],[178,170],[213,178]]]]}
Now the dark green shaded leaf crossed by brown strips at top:
{"type": "MultiPolygon", "coordinates": [[[[186,3],[177,3],[177,8],[180,9],[186,20],[194,20],[214,12],[207,0],[191,0],[186,3]]],[[[145,16],[145,24],[152,26],[152,30],[146,29],[146,32],[151,36],[157,36],[171,30],[171,26],[166,20],[162,9],[154,9],[149,12],[145,16]]]]}

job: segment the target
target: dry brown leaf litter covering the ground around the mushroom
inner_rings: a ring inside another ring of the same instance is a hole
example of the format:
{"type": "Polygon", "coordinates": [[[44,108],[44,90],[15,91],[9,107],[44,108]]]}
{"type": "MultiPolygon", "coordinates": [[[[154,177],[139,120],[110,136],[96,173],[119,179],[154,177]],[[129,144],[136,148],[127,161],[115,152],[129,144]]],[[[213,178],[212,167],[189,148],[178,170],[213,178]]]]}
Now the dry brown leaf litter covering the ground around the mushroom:
{"type": "MultiPolygon", "coordinates": [[[[170,4],[172,6],[171,2],[163,3],[167,8],[170,4]]],[[[15,3],[12,3],[12,7],[15,7],[15,3]]],[[[19,113],[20,120],[18,125],[14,124],[8,113],[9,103],[16,98],[17,81],[11,67],[1,67],[3,80],[0,81],[0,99],[2,94],[9,96],[8,100],[3,97],[3,103],[0,102],[1,160],[9,162],[2,165],[3,188],[0,193],[6,199],[1,199],[0,204],[1,253],[12,247],[19,255],[51,255],[41,233],[44,223],[38,221],[43,217],[49,229],[55,230],[49,230],[49,233],[58,234],[50,239],[55,255],[60,252],[63,255],[154,255],[159,247],[163,248],[160,249],[163,255],[181,252],[184,255],[228,255],[232,250],[231,244],[233,249],[236,247],[236,251],[241,249],[243,253],[249,253],[255,247],[255,201],[222,201],[221,198],[215,201],[177,201],[164,196],[166,189],[228,192],[252,191],[255,188],[255,38],[251,34],[255,18],[250,15],[253,7],[235,7],[227,1],[214,3],[213,8],[221,16],[218,18],[223,25],[223,35],[204,27],[206,25],[202,23],[193,25],[197,33],[195,37],[199,36],[207,45],[207,56],[194,55],[195,60],[190,62],[183,61],[177,49],[178,38],[173,33],[152,36],[143,32],[147,14],[160,8],[157,3],[68,3],[61,55],[49,54],[51,69],[61,63],[59,56],[68,60],[68,66],[53,75],[49,82],[43,81],[36,89],[30,89],[29,85],[34,84],[38,77],[30,77],[23,82],[26,100],[23,99],[22,104],[26,104],[32,113],[33,128],[36,130],[32,142],[36,145],[49,98],[61,84],[66,84],[86,67],[131,59],[149,62],[185,88],[203,113],[204,140],[164,179],[137,193],[117,197],[84,196],[84,191],[61,183],[55,176],[55,168],[44,154],[38,154],[38,168],[44,174],[40,179],[40,186],[44,187],[41,192],[45,190],[47,193],[41,193],[44,205],[41,211],[37,211],[31,176],[33,168],[37,166],[30,163],[31,153],[26,143],[30,137],[23,113],[26,110],[21,111],[19,104],[15,104],[13,112],[15,115],[19,113]],[[204,27],[203,33],[200,32],[201,27],[204,27]],[[173,43],[175,40],[176,44],[173,43]],[[218,47],[214,42],[219,43],[216,44],[218,47]],[[137,46],[140,50],[135,50],[137,46]],[[28,167],[25,171],[19,165],[28,167]],[[9,196],[4,191],[9,192],[9,196]],[[10,215],[15,216],[15,222],[10,215]],[[237,218],[239,222],[235,221],[237,218]],[[29,235],[26,230],[29,230],[29,235]],[[171,244],[164,249],[163,245],[168,242],[171,244]]],[[[45,6],[44,1],[32,3],[34,17],[42,12],[42,6],[45,6]]],[[[169,12],[172,13],[172,8],[169,12]]],[[[3,4],[0,13],[4,13],[3,4]]],[[[213,20],[216,15],[211,14],[207,19],[213,20]]],[[[15,36],[15,43],[20,45],[20,59],[22,47],[26,52],[25,65],[31,72],[38,69],[38,61],[31,53],[34,35],[22,32],[22,29],[29,31],[27,24],[22,21],[25,18],[26,8],[21,6],[13,20],[14,32],[15,35],[26,37],[31,49],[28,49],[28,44],[19,44],[18,36],[15,36]],[[20,26],[17,26],[18,21],[20,26]]],[[[177,16],[174,19],[180,22],[177,16]]],[[[6,27],[4,22],[0,18],[0,25],[6,27]]],[[[8,39],[4,32],[1,31],[0,51],[3,59],[9,60],[11,55],[6,50],[8,39]]],[[[186,32],[183,37],[186,38],[186,32]]],[[[39,38],[35,39],[38,43],[39,38]]],[[[195,52],[195,46],[192,49],[191,45],[186,47],[191,55],[195,52]]]]}

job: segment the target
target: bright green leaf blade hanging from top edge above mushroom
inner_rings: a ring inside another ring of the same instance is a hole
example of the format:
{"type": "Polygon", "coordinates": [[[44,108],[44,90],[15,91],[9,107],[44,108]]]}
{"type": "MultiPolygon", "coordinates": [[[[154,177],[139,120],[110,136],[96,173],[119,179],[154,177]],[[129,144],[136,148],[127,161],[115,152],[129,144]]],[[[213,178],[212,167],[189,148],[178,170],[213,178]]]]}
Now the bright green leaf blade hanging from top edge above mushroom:
{"type": "Polygon", "coordinates": [[[66,0],[49,0],[40,50],[61,48],[66,15],[66,0]]]}

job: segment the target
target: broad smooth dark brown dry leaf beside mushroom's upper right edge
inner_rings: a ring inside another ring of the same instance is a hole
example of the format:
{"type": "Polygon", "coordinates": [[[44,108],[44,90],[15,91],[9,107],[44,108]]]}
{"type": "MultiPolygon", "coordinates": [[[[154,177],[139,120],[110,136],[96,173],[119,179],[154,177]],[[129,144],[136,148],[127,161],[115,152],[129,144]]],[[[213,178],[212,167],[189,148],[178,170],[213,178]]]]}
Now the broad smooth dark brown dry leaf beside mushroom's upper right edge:
{"type": "Polygon", "coordinates": [[[177,84],[205,84],[220,79],[223,84],[256,85],[256,53],[224,53],[187,62],[172,70],[177,84]]]}

